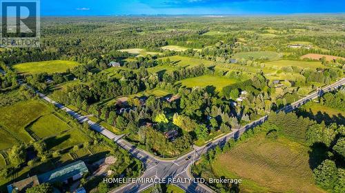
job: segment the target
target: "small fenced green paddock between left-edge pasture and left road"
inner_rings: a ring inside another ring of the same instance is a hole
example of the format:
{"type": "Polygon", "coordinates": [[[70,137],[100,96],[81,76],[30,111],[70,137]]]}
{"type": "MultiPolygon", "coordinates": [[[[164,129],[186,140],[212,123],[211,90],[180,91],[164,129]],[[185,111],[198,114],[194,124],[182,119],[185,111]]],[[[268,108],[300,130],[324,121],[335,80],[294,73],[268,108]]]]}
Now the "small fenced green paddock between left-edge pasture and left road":
{"type": "Polygon", "coordinates": [[[43,115],[30,127],[39,138],[43,139],[61,133],[64,130],[70,130],[70,126],[59,119],[54,114],[43,115]]]}

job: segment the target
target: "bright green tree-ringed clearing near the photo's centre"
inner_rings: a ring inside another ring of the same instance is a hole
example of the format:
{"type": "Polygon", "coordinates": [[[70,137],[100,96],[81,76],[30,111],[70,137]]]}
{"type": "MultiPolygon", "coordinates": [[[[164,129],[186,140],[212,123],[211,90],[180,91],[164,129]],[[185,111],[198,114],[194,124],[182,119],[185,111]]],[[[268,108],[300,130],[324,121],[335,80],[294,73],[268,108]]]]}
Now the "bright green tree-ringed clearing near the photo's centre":
{"type": "Polygon", "coordinates": [[[204,75],[199,76],[195,78],[187,78],[185,80],[181,80],[178,83],[181,83],[183,86],[186,87],[207,87],[207,86],[213,86],[216,88],[216,91],[221,91],[223,87],[226,87],[230,84],[236,83],[237,80],[230,79],[230,78],[224,78],[219,76],[210,76],[210,75],[204,75]]]}

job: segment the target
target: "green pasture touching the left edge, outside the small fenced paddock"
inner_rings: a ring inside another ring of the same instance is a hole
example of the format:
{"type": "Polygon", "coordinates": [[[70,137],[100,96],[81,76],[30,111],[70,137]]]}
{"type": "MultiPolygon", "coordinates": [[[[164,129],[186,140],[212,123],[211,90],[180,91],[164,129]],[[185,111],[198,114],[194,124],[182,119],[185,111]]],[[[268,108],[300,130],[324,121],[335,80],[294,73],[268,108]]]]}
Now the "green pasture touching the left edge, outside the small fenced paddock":
{"type": "MultiPolygon", "coordinates": [[[[37,120],[41,115],[50,113],[51,110],[46,104],[39,102],[39,100],[28,100],[11,106],[1,107],[0,112],[0,125],[27,144],[32,141],[32,138],[26,132],[25,127],[37,120]]],[[[0,141],[3,140],[0,139],[0,141]]]]}

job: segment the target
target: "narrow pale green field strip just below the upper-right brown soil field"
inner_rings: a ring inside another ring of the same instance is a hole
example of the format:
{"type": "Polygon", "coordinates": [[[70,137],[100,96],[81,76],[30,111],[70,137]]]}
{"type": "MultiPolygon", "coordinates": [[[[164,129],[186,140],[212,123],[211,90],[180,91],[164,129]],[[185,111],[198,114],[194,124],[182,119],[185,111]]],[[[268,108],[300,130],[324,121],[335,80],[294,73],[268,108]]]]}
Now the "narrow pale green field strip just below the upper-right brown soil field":
{"type": "Polygon", "coordinates": [[[302,68],[325,68],[326,66],[322,65],[321,62],[306,62],[306,61],[295,61],[295,60],[277,60],[273,62],[264,63],[265,67],[286,67],[286,66],[295,66],[302,68]]]}

